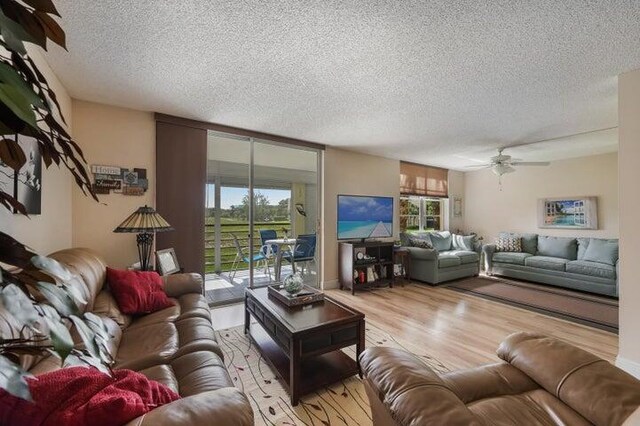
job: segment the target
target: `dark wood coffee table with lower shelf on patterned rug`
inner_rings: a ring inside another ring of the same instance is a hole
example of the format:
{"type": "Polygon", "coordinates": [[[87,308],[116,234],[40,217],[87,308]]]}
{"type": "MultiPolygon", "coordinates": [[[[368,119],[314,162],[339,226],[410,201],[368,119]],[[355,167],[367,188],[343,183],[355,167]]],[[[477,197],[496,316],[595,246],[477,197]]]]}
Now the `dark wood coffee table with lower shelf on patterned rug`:
{"type": "Polygon", "coordinates": [[[298,405],[300,396],[359,374],[359,364],[341,349],[364,350],[364,314],[330,297],[289,308],[266,288],[247,289],[244,331],[298,405]],[[251,323],[251,316],[256,323],[251,323]]]}

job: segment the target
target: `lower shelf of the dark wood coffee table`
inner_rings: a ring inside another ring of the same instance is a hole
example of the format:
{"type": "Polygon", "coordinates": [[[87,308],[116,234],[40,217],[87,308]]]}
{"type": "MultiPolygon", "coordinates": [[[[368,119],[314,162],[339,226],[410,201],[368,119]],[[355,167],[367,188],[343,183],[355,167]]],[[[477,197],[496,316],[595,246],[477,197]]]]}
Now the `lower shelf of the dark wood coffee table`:
{"type": "Polygon", "coordinates": [[[249,337],[291,395],[291,405],[293,406],[298,405],[300,396],[359,373],[356,361],[340,349],[322,355],[303,358],[300,361],[300,378],[298,381],[300,389],[297,395],[293,395],[291,393],[289,354],[282,350],[258,323],[251,323],[249,337]]]}

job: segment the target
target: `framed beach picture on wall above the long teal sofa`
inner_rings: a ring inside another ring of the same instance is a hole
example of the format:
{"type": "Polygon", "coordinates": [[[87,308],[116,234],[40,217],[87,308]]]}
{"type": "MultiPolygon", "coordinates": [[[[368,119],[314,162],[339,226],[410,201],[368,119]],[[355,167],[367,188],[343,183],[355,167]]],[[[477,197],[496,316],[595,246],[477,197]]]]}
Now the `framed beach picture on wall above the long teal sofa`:
{"type": "Polygon", "coordinates": [[[538,228],[598,229],[596,197],[541,198],[538,228]]]}

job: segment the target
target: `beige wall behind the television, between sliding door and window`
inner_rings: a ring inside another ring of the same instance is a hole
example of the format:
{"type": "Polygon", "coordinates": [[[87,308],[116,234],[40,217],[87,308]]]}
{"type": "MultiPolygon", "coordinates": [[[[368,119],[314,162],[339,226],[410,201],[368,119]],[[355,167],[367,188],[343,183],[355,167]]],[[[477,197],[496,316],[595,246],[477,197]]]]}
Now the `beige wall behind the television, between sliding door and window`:
{"type": "Polygon", "coordinates": [[[338,194],[394,197],[394,238],[398,238],[400,162],[373,155],[327,147],[324,152],[322,234],[322,282],[335,287],[338,279],[338,194]]]}

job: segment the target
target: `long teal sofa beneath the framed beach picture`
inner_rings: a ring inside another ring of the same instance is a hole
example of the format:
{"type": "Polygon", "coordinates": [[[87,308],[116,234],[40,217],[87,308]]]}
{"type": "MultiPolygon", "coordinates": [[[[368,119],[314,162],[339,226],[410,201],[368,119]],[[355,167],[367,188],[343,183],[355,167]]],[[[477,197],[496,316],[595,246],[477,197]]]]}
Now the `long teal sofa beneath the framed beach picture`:
{"type": "Polygon", "coordinates": [[[567,238],[502,232],[521,238],[522,252],[482,247],[484,268],[501,275],[557,287],[618,297],[618,240],[567,238]]]}

